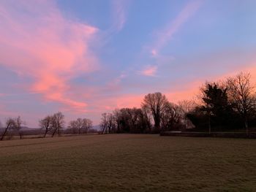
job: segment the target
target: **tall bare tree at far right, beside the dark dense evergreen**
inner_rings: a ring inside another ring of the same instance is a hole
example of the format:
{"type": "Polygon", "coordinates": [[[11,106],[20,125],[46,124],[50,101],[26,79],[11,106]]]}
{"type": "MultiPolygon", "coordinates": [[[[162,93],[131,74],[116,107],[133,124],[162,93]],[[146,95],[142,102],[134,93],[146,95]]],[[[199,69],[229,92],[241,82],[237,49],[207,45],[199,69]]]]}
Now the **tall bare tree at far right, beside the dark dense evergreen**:
{"type": "Polygon", "coordinates": [[[241,72],[227,79],[227,91],[236,111],[244,120],[246,134],[249,134],[248,118],[255,113],[255,87],[250,83],[251,75],[241,72]]]}

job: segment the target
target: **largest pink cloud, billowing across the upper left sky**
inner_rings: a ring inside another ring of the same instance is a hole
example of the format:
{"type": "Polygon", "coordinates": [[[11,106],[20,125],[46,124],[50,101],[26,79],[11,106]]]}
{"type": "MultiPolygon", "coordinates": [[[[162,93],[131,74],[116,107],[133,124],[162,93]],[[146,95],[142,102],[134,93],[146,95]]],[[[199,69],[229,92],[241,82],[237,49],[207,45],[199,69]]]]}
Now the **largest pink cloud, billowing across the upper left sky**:
{"type": "Polygon", "coordinates": [[[31,77],[29,91],[74,110],[86,103],[69,98],[69,80],[98,69],[90,51],[97,28],[64,18],[54,1],[1,1],[0,63],[31,77]],[[15,4],[16,6],[13,6],[15,4]]]}

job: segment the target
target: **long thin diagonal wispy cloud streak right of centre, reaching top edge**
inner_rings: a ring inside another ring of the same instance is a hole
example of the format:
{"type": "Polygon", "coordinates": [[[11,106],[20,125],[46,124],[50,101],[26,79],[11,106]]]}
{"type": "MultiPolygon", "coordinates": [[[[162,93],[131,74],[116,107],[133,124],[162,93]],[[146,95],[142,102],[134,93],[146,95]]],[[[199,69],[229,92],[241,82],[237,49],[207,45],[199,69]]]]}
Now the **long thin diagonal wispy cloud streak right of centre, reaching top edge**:
{"type": "Polygon", "coordinates": [[[162,30],[157,31],[157,40],[151,46],[150,53],[152,56],[159,54],[159,51],[164,47],[170,39],[173,38],[173,34],[181,28],[181,26],[189,20],[192,15],[195,14],[197,9],[199,9],[203,0],[189,1],[189,3],[179,12],[177,17],[168,23],[167,27],[162,30]]]}

